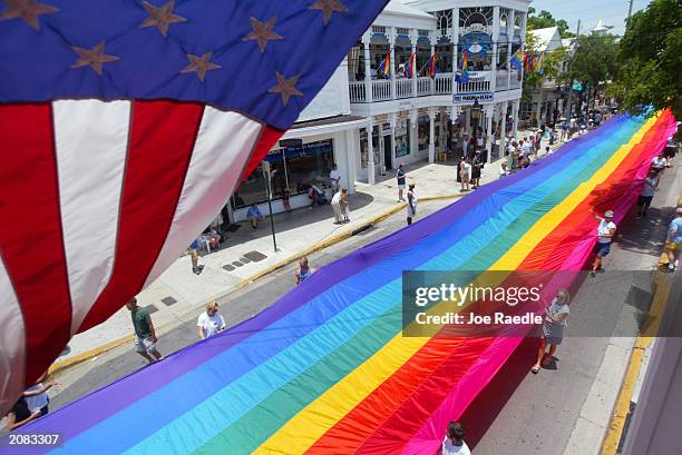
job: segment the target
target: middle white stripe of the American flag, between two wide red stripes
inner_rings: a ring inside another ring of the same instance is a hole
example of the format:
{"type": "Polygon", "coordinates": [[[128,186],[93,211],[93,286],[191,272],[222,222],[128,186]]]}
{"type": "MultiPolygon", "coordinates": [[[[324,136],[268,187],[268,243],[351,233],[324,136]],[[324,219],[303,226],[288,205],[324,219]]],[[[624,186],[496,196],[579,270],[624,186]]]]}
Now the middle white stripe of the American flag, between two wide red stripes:
{"type": "Polygon", "coordinates": [[[75,334],[114,268],[130,101],[68,100],[52,106],[75,334]]]}

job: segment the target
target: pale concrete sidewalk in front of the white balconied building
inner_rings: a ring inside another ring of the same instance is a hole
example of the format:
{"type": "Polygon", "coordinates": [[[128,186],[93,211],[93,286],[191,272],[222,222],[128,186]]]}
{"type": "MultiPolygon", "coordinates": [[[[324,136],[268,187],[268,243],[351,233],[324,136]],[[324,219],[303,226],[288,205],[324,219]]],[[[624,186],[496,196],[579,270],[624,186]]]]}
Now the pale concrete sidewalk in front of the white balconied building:
{"type": "MultiPolygon", "coordinates": [[[[557,148],[556,145],[553,148],[557,148]]],[[[544,147],[543,147],[544,148],[544,147]]],[[[542,154],[540,154],[542,157],[542,154]]],[[[499,177],[500,160],[485,166],[481,185],[499,177]]],[[[456,164],[416,164],[407,166],[408,184],[416,184],[419,200],[449,198],[456,200],[460,192],[456,180],[456,164]]],[[[179,257],[156,281],[143,290],[137,299],[147,307],[157,328],[181,324],[187,313],[196,313],[212,299],[230,294],[253,280],[281,268],[301,256],[319,250],[350,237],[363,227],[405,210],[398,201],[398,189],[392,172],[376,185],[355,182],[355,194],[350,197],[351,221],[334,225],[329,205],[313,209],[302,208],[274,217],[277,251],[274,251],[269,220],[257,229],[247,222],[240,225],[220,250],[204,254],[199,264],[203,273],[192,273],[189,257],[179,257]]],[[[314,264],[312,264],[314,267],[314,264]]],[[[293,279],[293,277],[292,277],[293,279]]],[[[56,360],[51,372],[71,366],[123,343],[131,340],[130,315],[124,307],[108,320],[82,334],[76,335],[69,348],[56,360]]]]}

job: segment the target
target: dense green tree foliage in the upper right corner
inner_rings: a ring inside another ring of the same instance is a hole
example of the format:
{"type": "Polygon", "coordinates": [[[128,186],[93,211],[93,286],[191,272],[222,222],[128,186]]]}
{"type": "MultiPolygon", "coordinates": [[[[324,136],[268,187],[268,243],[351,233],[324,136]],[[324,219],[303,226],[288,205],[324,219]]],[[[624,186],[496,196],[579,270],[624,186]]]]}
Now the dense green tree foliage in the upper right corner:
{"type": "Polygon", "coordinates": [[[682,1],[653,0],[627,21],[621,40],[622,71],[614,92],[642,112],[672,108],[682,119],[682,1]]]}

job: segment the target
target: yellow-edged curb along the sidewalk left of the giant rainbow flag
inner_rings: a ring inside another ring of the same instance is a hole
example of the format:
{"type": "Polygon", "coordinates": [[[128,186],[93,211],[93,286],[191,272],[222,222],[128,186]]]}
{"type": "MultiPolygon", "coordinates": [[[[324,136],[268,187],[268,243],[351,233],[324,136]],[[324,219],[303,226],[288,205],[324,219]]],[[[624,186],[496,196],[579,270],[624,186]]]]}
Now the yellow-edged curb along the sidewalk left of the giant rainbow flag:
{"type": "MultiPolygon", "coordinates": [[[[457,199],[457,198],[462,197],[462,196],[465,196],[465,194],[435,195],[435,196],[425,196],[420,200],[421,201],[429,201],[429,200],[441,200],[441,199],[457,199]]],[[[272,274],[273,271],[276,271],[276,270],[279,270],[279,269],[281,269],[283,267],[286,267],[288,265],[296,261],[298,259],[302,258],[303,256],[308,256],[308,255],[310,255],[312,253],[315,253],[315,251],[319,251],[321,249],[328,248],[328,247],[330,247],[333,244],[337,244],[339,241],[345,240],[345,239],[352,237],[355,233],[361,233],[364,229],[370,228],[373,225],[383,221],[384,219],[396,215],[397,212],[399,212],[400,210],[405,209],[406,207],[407,207],[406,202],[397,204],[396,206],[393,206],[390,209],[386,210],[381,215],[378,215],[376,217],[369,218],[368,220],[363,221],[362,224],[360,224],[359,226],[357,226],[354,228],[345,229],[345,230],[337,234],[333,237],[329,237],[329,238],[327,238],[327,239],[324,239],[324,240],[322,240],[322,241],[320,241],[320,243],[318,243],[318,244],[315,244],[315,245],[304,249],[303,251],[296,253],[295,255],[292,255],[292,256],[288,257],[286,259],[283,259],[283,260],[281,260],[281,261],[270,266],[269,268],[266,268],[266,269],[255,274],[254,276],[240,281],[237,285],[235,285],[232,288],[232,291],[242,289],[242,288],[251,285],[255,280],[264,277],[265,275],[272,274]]],[[[211,298],[208,298],[207,301],[215,300],[215,299],[217,299],[217,298],[220,298],[220,297],[222,297],[224,295],[225,295],[225,293],[217,294],[217,295],[212,296],[211,298]]],[[[168,322],[168,323],[159,326],[158,327],[159,333],[163,332],[164,328],[166,328],[166,327],[168,327],[169,325],[173,325],[173,324],[175,324],[175,322],[168,322]]],[[[97,356],[99,356],[101,354],[105,354],[105,353],[107,353],[107,352],[109,352],[111,349],[115,349],[118,346],[121,346],[121,345],[124,345],[124,344],[126,344],[128,342],[131,342],[131,340],[133,340],[133,335],[131,334],[130,335],[126,335],[126,336],[124,336],[121,338],[117,338],[117,339],[115,339],[113,342],[106,343],[106,344],[104,344],[104,345],[101,345],[99,347],[96,347],[94,349],[86,350],[84,353],[80,353],[78,355],[69,357],[69,358],[67,358],[65,360],[56,362],[56,363],[53,363],[50,366],[48,373],[50,375],[53,375],[53,374],[57,374],[57,373],[62,373],[65,369],[71,368],[71,367],[74,367],[76,365],[79,365],[79,364],[81,364],[84,362],[87,362],[87,360],[89,360],[92,357],[97,357],[97,356]]]]}

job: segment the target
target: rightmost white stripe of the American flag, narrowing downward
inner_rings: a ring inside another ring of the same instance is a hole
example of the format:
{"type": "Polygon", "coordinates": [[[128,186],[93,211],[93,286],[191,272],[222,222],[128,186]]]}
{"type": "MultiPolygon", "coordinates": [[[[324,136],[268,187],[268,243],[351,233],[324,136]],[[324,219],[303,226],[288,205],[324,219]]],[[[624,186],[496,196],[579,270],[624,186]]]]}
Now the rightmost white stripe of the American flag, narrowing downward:
{"type": "Polygon", "coordinates": [[[218,214],[238,185],[262,128],[241,113],[206,107],[170,230],[144,287],[218,214]]]}

